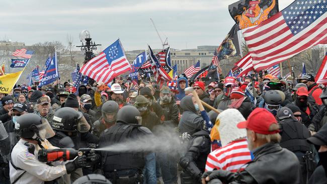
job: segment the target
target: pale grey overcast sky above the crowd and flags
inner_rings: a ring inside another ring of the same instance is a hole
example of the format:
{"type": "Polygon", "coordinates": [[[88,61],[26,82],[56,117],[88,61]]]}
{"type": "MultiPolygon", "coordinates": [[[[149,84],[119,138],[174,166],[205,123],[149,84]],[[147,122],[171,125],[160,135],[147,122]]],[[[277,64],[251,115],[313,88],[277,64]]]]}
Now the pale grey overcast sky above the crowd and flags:
{"type": "MultiPolygon", "coordinates": [[[[61,41],[67,35],[79,45],[78,34],[87,29],[102,49],[117,38],[125,50],[161,48],[150,22],[153,19],[163,40],[172,48],[218,45],[234,21],[228,5],[236,0],[2,0],[0,40],[25,42],[61,41]]],[[[293,0],[280,0],[279,10],[293,0]]]]}

